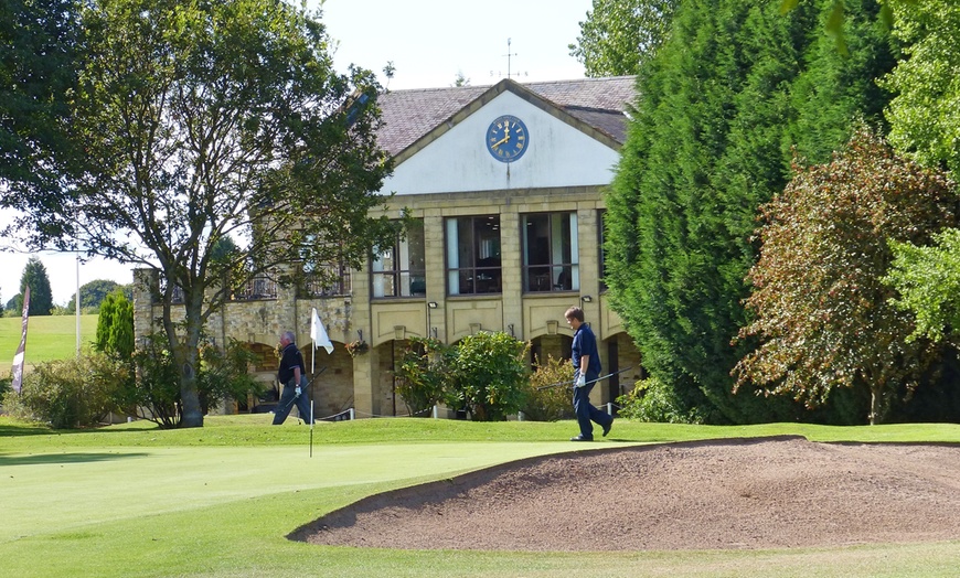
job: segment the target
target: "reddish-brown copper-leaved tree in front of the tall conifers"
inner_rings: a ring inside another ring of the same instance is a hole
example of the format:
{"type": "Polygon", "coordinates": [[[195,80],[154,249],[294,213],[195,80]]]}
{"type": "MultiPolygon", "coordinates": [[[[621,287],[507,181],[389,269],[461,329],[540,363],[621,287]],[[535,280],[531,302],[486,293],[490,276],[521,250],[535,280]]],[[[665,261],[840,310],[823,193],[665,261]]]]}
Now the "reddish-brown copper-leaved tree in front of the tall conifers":
{"type": "Polygon", "coordinates": [[[956,225],[950,182],[861,128],[832,162],[794,162],[793,180],[760,213],[746,300],[755,318],[738,335],[758,346],[735,366],[735,387],[753,382],[808,407],[835,388],[863,387],[870,422],[882,421],[896,392],[913,390],[939,352],[929,340],[907,340],[913,314],[890,303],[895,290],[882,282],[888,239],[924,245],[956,225]]]}

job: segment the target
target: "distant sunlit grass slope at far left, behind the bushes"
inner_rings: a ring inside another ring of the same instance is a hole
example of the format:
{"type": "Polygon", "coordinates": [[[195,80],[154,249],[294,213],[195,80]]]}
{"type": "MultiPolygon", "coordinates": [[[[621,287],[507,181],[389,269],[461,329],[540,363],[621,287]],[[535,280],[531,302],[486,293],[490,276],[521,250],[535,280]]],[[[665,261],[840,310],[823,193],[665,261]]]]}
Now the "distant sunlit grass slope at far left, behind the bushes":
{"type": "MultiPolygon", "coordinates": [[[[20,345],[21,318],[0,318],[0,376],[10,374],[20,345]]],[[[81,346],[89,346],[97,333],[97,315],[81,315],[81,346]]],[[[76,355],[75,315],[34,315],[26,332],[26,365],[76,355]]]]}

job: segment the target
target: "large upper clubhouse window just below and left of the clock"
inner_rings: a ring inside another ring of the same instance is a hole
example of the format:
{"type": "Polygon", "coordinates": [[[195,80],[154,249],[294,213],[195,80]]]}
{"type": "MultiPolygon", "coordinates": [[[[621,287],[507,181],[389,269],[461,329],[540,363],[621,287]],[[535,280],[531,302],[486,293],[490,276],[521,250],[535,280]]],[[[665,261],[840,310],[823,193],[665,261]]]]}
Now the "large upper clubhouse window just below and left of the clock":
{"type": "Polygon", "coordinates": [[[450,295],[499,293],[500,216],[447,220],[447,290],[450,295]]]}

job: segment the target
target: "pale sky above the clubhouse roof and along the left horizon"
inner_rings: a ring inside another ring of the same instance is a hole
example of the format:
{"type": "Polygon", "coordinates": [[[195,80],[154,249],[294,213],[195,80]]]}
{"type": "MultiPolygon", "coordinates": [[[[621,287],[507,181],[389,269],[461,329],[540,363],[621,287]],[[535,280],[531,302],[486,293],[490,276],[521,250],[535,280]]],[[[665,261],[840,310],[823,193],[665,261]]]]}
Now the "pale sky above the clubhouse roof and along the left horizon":
{"type": "MultiPolygon", "coordinates": [[[[582,78],[584,67],[567,46],[576,43],[593,0],[326,0],[322,7],[308,0],[308,7],[323,12],[340,72],[352,63],[376,72],[388,89],[402,90],[454,86],[459,75],[472,86],[487,86],[508,71],[521,83],[582,78]],[[388,62],[395,68],[390,79],[382,74],[388,62]]],[[[0,223],[8,218],[0,214],[0,223]]],[[[3,304],[20,292],[32,255],[11,246],[0,239],[3,304]]],[[[73,254],[33,256],[46,268],[56,304],[70,301],[77,280],[81,286],[95,279],[132,281],[130,266],[116,261],[95,258],[77,267],[73,254]]]]}

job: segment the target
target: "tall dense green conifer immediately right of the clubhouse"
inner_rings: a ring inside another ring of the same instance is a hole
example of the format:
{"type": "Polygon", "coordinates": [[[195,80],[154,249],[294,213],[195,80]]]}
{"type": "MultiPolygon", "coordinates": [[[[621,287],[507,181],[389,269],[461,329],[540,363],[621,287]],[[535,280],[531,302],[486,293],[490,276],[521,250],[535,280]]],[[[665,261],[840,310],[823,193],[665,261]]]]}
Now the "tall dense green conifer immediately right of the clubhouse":
{"type": "Polygon", "coordinates": [[[875,2],[847,2],[844,57],[822,33],[830,0],[789,14],[751,0],[691,0],[641,69],[638,104],[608,194],[615,308],[650,373],[713,422],[783,419],[790,408],[734,395],[730,370],[753,344],[745,277],[757,206],[789,180],[791,148],[822,161],[892,67],[875,2]]]}

